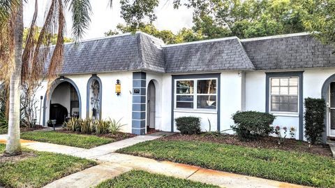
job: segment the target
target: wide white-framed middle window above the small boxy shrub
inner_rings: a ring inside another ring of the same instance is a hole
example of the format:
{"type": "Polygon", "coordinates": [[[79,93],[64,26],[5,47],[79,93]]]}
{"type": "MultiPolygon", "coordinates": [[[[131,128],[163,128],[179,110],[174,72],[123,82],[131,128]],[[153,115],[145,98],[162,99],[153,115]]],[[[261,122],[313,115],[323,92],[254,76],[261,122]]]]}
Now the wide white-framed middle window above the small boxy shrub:
{"type": "Polygon", "coordinates": [[[216,79],[176,80],[176,108],[215,110],[216,82],[216,79]]]}

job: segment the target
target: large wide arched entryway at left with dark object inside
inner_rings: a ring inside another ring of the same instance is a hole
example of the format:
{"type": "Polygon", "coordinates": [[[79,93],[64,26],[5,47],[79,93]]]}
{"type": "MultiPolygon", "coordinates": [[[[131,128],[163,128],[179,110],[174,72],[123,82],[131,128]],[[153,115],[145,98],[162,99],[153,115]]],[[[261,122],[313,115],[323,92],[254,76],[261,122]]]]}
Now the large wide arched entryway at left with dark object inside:
{"type": "Polygon", "coordinates": [[[73,80],[58,78],[52,83],[49,95],[45,94],[43,125],[48,120],[56,120],[57,125],[64,124],[67,118],[81,117],[80,92],[73,80]]]}

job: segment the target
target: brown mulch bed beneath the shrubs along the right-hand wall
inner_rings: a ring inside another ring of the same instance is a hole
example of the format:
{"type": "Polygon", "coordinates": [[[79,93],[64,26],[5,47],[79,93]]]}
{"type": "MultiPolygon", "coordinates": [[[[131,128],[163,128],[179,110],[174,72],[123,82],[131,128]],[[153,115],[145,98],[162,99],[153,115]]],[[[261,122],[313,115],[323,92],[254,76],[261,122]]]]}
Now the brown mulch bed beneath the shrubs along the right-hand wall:
{"type": "Polygon", "coordinates": [[[308,147],[307,142],[303,142],[295,139],[285,139],[284,143],[278,145],[278,138],[267,136],[261,138],[260,140],[248,140],[241,141],[237,136],[224,135],[224,136],[201,136],[201,135],[181,135],[180,133],[174,134],[172,136],[166,136],[159,138],[159,140],[183,140],[183,141],[203,141],[211,143],[225,143],[230,145],[241,145],[245,147],[255,147],[255,148],[267,148],[275,150],[285,150],[292,152],[308,152],[311,154],[318,154],[326,157],[332,157],[332,151],[329,145],[312,145],[308,147]]]}

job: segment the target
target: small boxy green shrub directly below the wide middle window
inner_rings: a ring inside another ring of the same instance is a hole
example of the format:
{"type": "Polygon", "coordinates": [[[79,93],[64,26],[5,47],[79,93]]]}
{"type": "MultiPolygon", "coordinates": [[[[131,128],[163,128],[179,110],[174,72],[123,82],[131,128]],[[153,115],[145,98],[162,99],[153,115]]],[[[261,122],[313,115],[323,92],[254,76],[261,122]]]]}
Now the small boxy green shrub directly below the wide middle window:
{"type": "Polygon", "coordinates": [[[181,134],[200,133],[200,117],[178,117],[175,121],[181,134]]]}

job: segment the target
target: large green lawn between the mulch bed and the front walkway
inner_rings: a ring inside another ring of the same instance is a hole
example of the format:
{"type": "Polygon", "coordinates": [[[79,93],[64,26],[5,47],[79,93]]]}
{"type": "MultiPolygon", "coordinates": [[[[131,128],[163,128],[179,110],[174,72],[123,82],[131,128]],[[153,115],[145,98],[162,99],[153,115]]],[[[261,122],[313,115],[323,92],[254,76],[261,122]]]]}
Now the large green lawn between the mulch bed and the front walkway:
{"type": "Polygon", "coordinates": [[[151,140],[117,152],[315,187],[335,187],[335,160],[200,141],[151,140]]]}

